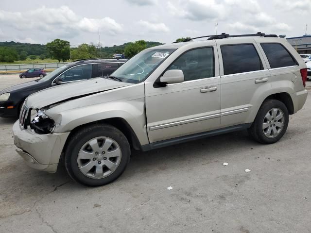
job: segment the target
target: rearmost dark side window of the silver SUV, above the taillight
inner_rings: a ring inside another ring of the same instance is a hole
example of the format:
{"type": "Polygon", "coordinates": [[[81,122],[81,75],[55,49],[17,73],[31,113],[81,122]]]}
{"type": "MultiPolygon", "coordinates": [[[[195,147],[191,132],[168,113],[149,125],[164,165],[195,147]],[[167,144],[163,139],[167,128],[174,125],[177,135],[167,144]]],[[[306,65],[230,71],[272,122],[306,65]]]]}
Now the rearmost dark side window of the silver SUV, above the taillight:
{"type": "Polygon", "coordinates": [[[262,43],[260,45],[268,58],[271,68],[298,65],[292,55],[281,44],[262,43]]]}

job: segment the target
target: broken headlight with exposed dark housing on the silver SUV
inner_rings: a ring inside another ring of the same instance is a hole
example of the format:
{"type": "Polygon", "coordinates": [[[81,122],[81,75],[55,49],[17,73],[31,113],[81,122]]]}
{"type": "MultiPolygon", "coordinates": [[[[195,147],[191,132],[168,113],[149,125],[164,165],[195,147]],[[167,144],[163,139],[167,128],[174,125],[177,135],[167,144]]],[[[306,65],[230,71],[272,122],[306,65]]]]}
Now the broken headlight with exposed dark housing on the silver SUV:
{"type": "Polygon", "coordinates": [[[52,133],[55,128],[55,122],[41,110],[32,110],[30,128],[38,134],[52,133]],[[36,111],[36,114],[35,112],[36,111]],[[33,116],[35,116],[33,118],[33,116]]]}

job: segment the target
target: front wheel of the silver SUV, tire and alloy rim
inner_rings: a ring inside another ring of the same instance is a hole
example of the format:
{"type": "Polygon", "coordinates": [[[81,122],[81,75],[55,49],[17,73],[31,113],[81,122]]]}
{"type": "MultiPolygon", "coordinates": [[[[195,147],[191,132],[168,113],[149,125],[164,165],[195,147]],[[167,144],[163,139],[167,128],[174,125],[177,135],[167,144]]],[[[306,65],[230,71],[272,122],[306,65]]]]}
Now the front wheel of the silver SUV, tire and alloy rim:
{"type": "Polygon", "coordinates": [[[70,137],[65,150],[65,166],[74,181],[100,186],[121,176],[130,155],[129,142],[120,130],[107,124],[91,125],[70,137]]]}

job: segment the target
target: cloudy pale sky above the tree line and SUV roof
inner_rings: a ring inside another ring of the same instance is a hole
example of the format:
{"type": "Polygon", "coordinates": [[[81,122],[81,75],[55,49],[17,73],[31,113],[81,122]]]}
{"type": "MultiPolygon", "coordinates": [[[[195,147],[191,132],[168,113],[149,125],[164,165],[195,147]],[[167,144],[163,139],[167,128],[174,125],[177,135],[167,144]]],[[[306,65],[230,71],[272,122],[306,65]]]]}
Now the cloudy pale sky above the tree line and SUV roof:
{"type": "Polygon", "coordinates": [[[171,43],[216,33],[311,34],[311,0],[0,0],[0,41],[171,43]],[[308,14],[309,13],[309,14],[308,14]]]}

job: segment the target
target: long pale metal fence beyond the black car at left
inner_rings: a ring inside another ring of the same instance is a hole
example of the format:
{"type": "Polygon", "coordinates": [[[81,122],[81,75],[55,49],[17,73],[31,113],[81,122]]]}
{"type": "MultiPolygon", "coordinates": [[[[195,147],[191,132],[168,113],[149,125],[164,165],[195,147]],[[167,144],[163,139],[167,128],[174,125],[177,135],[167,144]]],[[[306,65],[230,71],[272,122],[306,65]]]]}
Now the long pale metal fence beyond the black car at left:
{"type": "Polygon", "coordinates": [[[0,74],[14,74],[21,73],[28,69],[43,68],[46,71],[52,71],[58,67],[61,67],[69,62],[60,63],[37,63],[37,64],[20,64],[20,65],[0,65],[0,74]]]}

